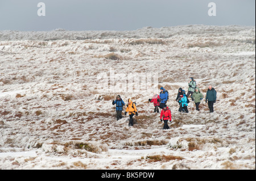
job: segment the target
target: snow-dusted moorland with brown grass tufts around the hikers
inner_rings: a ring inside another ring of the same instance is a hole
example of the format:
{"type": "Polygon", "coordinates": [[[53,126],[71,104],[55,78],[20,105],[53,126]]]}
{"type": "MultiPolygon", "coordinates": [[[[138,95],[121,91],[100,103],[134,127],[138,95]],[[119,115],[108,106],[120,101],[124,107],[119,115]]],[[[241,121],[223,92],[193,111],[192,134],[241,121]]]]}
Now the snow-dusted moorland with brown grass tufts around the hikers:
{"type": "Polygon", "coordinates": [[[0,169],[255,169],[255,27],[0,31],[0,40],[0,169]],[[143,83],[100,90],[97,75],[110,68],[158,73],[171,129],[143,83]],[[205,99],[199,112],[177,111],[189,77],[204,98],[216,89],[214,113],[205,99]],[[115,119],[118,94],[137,102],[134,127],[115,119]]]}

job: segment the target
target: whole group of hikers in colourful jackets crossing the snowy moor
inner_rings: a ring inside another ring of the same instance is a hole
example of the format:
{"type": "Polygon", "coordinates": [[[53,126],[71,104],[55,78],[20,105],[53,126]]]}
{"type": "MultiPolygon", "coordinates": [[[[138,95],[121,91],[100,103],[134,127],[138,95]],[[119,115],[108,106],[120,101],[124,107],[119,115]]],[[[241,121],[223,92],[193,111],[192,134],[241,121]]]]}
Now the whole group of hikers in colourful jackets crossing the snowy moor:
{"type": "MultiPolygon", "coordinates": [[[[179,103],[179,112],[183,111],[188,113],[188,103],[189,95],[191,95],[191,100],[195,102],[196,110],[199,110],[199,104],[201,103],[202,99],[204,98],[203,94],[200,92],[199,87],[196,86],[196,81],[193,77],[189,78],[188,81],[188,92],[185,94],[185,90],[181,87],[178,90],[176,102],[179,103]]],[[[210,113],[213,112],[213,104],[216,103],[216,90],[209,85],[206,96],[205,96],[205,103],[208,103],[208,108],[210,113]]],[[[160,112],[160,121],[164,121],[163,129],[170,129],[168,127],[168,120],[172,121],[171,110],[167,107],[167,100],[169,99],[169,93],[163,87],[160,87],[160,94],[154,94],[152,99],[148,99],[148,103],[154,103],[154,113],[159,113],[159,108],[162,109],[160,112]]],[[[123,106],[125,106],[125,102],[121,99],[120,95],[117,95],[116,100],[113,100],[113,105],[115,105],[115,111],[117,115],[117,120],[122,119],[122,111],[123,106]]],[[[131,99],[128,99],[128,104],[125,110],[125,115],[129,112],[129,127],[133,126],[133,116],[138,116],[138,111],[136,107],[136,103],[132,102],[131,99]]]]}

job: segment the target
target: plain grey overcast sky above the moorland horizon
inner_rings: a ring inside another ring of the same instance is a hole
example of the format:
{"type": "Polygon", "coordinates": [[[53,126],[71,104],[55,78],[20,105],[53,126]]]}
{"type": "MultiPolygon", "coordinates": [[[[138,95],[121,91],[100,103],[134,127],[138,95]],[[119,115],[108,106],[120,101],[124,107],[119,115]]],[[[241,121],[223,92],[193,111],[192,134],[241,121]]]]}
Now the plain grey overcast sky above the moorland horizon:
{"type": "Polygon", "coordinates": [[[255,26],[255,0],[0,0],[0,31],[137,30],[188,24],[255,26]],[[38,3],[46,16],[38,16],[38,3]],[[216,4],[209,16],[208,4],[216,4]]]}

